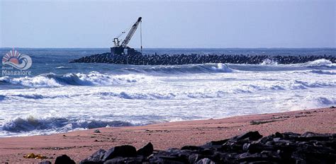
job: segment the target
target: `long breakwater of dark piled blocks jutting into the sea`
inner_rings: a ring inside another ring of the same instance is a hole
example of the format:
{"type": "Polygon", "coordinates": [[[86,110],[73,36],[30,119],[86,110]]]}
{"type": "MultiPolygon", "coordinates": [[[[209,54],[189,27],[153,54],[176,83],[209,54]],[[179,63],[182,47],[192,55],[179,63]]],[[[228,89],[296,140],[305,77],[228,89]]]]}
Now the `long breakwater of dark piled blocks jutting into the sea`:
{"type": "Polygon", "coordinates": [[[274,61],[277,64],[298,64],[317,59],[327,59],[336,63],[334,56],[269,56],[269,55],[230,55],[230,54],[151,54],[151,55],[111,55],[106,52],[82,57],[70,61],[71,63],[110,63],[133,65],[181,65],[181,64],[205,64],[205,63],[231,63],[231,64],[261,64],[265,60],[274,61]]]}

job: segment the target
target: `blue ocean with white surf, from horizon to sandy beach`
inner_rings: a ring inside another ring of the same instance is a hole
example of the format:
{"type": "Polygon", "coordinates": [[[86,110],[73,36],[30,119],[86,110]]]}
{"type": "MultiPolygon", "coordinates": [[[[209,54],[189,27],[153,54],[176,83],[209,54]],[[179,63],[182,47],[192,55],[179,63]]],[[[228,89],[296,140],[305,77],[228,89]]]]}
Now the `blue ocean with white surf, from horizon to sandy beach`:
{"type": "MultiPolygon", "coordinates": [[[[9,50],[1,48],[1,57],[9,50]]],[[[133,66],[69,63],[109,49],[16,50],[33,64],[30,75],[0,74],[0,137],[336,105],[336,64],[327,59],[133,66]]],[[[155,52],[336,56],[335,48],[144,49],[145,54],[155,52]]]]}

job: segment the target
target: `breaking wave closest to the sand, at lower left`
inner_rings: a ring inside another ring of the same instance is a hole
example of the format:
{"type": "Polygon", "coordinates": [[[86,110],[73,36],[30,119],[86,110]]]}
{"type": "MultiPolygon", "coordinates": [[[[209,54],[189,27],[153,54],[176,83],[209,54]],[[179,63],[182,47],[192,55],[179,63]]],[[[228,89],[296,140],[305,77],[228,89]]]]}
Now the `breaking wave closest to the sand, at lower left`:
{"type": "MultiPolygon", "coordinates": [[[[19,135],[36,135],[36,134],[55,134],[67,131],[95,129],[101,127],[130,127],[146,124],[155,124],[160,122],[174,122],[187,119],[200,119],[197,116],[159,116],[159,115],[142,115],[130,116],[130,121],[115,120],[101,121],[99,119],[69,119],[65,117],[43,117],[38,118],[32,115],[27,117],[15,117],[6,119],[2,122],[0,130],[2,134],[19,135]],[[143,117],[142,120],[133,120],[143,117]]],[[[1,125],[1,124],[0,124],[1,125]]],[[[0,133],[1,136],[1,133],[0,133]]]]}

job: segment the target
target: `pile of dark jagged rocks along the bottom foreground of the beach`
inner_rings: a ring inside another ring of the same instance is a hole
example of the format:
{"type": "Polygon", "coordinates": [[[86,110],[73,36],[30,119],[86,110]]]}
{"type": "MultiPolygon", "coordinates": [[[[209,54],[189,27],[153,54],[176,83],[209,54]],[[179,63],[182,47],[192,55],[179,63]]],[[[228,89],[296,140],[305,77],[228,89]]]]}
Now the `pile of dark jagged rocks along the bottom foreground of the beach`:
{"type": "MultiPolygon", "coordinates": [[[[74,162],[63,155],[55,163],[74,162]]],[[[336,163],[336,134],[276,132],[262,137],[250,131],[203,146],[155,152],[151,143],[138,151],[124,145],[100,149],[81,163],[336,163]]]]}

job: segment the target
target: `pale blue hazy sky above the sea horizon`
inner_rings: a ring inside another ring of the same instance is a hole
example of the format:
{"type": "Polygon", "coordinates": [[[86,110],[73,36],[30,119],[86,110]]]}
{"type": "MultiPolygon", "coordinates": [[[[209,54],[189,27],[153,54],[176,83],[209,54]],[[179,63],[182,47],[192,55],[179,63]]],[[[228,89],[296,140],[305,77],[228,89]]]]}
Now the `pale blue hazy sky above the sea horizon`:
{"type": "Polygon", "coordinates": [[[336,47],[335,0],[0,0],[0,47],[111,47],[140,16],[144,48],[336,47]]]}

